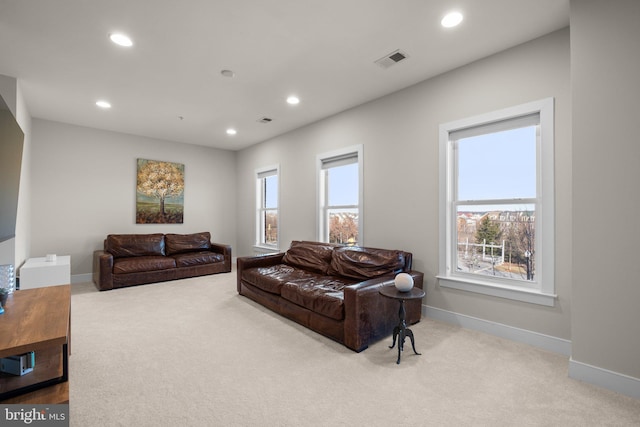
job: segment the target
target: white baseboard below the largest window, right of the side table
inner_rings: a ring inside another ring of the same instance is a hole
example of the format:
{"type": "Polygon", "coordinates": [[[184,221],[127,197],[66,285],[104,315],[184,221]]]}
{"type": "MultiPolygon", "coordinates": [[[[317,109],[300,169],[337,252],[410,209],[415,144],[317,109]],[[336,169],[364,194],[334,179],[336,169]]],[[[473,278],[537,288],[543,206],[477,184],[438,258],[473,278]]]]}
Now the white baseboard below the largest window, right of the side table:
{"type": "Polygon", "coordinates": [[[485,332],[490,335],[529,344],[543,350],[552,351],[565,356],[571,356],[571,341],[562,338],[552,337],[550,335],[515,328],[513,326],[491,322],[477,317],[454,313],[452,311],[442,310],[440,308],[426,305],[422,306],[422,314],[445,323],[451,323],[462,326],[463,328],[485,332]]]}

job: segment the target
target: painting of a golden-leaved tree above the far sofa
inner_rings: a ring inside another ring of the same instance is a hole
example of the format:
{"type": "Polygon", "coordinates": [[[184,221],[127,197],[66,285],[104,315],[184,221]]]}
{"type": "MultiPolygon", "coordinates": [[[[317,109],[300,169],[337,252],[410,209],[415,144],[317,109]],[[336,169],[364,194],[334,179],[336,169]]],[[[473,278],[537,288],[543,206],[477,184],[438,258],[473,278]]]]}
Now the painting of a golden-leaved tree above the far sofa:
{"type": "Polygon", "coordinates": [[[184,165],[138,159],[136,224],[182,224],[184,165]]]}

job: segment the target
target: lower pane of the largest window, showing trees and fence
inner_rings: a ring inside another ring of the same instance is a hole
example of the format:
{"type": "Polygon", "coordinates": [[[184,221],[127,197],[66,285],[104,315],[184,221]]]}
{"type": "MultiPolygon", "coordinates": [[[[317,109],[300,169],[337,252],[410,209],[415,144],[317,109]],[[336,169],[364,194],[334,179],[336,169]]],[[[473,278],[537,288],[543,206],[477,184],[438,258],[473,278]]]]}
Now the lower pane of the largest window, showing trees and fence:
{"type": "Polygon", "coordinates": [[[458,206],[456,217],[457,272],[534,280],[533,204],[458,206]]]}

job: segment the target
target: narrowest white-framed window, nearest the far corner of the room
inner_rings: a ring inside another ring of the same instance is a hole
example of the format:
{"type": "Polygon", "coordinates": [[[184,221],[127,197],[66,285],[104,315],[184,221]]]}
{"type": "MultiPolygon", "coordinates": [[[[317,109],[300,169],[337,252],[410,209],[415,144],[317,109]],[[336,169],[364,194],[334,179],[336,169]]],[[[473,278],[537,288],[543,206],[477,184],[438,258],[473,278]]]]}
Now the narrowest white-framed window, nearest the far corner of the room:
{"type": "Polygon", "coordinates": [[[256,245],[278,248],[278,176],[279,167],[256,171],[256,245]]]}

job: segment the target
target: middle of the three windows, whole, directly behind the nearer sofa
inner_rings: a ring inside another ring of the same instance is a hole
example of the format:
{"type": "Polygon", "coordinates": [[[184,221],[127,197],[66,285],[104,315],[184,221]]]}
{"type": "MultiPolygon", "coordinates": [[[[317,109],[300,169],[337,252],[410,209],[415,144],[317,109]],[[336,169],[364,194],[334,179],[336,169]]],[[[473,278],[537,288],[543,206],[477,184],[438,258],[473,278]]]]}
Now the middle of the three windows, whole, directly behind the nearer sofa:
{"type": "Polygon", "coordinates": [[[318,240],[362,245],[362,146],[318,156],[318,240]]]}

